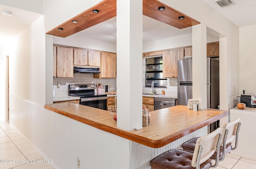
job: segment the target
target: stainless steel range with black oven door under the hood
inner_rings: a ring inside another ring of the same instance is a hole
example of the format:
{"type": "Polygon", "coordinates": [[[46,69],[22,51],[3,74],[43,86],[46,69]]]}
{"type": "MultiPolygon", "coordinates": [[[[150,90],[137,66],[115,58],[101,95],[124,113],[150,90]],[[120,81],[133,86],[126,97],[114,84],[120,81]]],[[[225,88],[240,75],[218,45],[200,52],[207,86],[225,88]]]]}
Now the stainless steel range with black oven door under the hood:
{"type": "Polygon", "coordinates": [[[94,92],[95,84],[70,84],[68,95],[80,97],[80,104],[107,110],[107,95],[94,92]]]}

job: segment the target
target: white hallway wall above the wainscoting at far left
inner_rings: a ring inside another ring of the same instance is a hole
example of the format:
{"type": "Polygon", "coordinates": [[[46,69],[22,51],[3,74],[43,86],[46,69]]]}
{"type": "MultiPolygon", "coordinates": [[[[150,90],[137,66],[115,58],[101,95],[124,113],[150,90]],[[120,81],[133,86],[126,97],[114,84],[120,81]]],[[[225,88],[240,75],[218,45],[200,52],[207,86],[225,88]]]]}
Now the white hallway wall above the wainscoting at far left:
{"type": "Polygon", "coordinates": [[[20,33],[10,47],[10,94],[44,104],[44,17],[40,17],[20,33]]]}

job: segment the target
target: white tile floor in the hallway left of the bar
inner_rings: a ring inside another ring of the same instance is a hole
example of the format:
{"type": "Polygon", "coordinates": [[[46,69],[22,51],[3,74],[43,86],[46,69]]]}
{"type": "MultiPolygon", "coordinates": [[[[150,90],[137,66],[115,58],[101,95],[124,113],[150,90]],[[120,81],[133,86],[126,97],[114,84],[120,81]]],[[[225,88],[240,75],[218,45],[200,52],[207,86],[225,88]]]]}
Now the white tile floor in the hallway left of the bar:
{"type": "Polygon", "coordinates": [[[0,160],[0,169],[53,169],[48,163],[44,163],[42,156],[5,121],[0,121],[0,160]]]}

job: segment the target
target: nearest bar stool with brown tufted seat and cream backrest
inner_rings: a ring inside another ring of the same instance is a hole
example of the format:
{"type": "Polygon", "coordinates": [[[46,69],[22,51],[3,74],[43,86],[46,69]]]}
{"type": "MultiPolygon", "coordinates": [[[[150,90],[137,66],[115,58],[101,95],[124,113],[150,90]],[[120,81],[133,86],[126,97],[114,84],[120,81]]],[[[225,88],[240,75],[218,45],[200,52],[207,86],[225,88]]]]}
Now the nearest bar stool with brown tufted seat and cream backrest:
{"type": "Polygon", "coordinates": [[[182,149],[171,149],[150,161],[151,169],[209,169],[216,167],[219,159],[212,165],[210,157],[214,152],[219,154],[222,133],[217,128],[212,133],[196,140],[194,153],[182,149]]]}

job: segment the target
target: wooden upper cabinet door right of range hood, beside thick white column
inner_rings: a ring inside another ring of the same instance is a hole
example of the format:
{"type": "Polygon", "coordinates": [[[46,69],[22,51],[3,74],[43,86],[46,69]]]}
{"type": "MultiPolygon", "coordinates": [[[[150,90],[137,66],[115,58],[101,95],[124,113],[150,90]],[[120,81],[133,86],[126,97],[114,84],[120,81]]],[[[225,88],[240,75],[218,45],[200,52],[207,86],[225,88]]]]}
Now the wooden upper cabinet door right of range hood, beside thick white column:
{"type": "Polygon", "coordinates": [[[116,78],[116,54],[101,53],[100,77],[116,78]]]}

